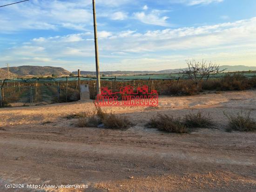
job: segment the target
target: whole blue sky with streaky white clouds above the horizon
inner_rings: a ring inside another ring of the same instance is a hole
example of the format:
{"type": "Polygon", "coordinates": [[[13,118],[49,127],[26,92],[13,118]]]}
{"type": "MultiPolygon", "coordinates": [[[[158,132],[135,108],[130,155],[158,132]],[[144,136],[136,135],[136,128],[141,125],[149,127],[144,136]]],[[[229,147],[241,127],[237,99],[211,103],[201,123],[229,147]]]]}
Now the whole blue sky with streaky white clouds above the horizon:
{"type": "MultiPolygon", "coordinates": [[[[0,6],[19,0],[0,0],[0,6]]],[[[256,0],[95,0],[101,71],[256,66],[256,0]]],[[[0,7],[0,67],[95,71],[92,0],[0,7]]]]}

